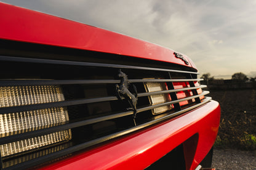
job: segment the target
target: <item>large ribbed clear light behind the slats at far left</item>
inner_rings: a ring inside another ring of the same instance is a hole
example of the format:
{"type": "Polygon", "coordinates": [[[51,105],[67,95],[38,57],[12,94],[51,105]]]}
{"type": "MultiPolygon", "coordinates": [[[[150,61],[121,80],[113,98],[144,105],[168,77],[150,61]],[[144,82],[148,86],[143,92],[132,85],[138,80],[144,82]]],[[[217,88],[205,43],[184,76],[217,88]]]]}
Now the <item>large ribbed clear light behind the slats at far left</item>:
{"type": "MultiPolygon", "coordinates": [[[[64,100],[62,88],[58,85],[0,87],[0,107],[25,106],[64,100]]],[[[0,137],[50,128],[62,125],[68,120],[68,112],[65,107],[0,114],[0,137]]],[[[70,139],[70,129],[20,141],[17,139],[16,142],[0,145],[1,156],[6,157],[28,152],[70,139]]]]}

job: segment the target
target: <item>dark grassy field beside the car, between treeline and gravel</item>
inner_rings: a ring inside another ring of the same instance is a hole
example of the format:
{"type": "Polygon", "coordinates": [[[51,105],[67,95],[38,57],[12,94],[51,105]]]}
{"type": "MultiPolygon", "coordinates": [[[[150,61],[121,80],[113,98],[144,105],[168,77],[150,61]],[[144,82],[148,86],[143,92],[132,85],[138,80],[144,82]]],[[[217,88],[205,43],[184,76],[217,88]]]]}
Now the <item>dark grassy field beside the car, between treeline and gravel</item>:
{"type": "Polygon", "coordinates": [[[256,90],[210,90],[222,116],[216,147],[256,150],[256,90]]]}

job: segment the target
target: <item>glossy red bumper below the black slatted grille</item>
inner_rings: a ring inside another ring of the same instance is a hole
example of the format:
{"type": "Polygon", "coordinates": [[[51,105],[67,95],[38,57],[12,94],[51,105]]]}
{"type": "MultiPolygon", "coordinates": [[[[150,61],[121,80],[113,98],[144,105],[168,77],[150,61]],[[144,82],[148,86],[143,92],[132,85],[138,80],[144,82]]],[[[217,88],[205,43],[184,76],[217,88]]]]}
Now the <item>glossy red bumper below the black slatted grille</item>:
{"type": "Polygon", "coordinates": [[[192,170],[214,144],[219,122],[220,106],[210,101],[185,115],[42,169],[145,169],[184,142],[186,166],[192,170]]]}

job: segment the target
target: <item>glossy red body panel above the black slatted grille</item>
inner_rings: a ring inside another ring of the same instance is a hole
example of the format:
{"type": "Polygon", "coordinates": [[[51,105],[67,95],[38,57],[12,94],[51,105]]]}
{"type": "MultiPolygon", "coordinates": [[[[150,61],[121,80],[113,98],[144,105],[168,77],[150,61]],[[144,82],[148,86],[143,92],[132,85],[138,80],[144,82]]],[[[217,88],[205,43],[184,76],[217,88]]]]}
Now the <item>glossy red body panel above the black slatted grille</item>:
{"type": "Polygon", "coordinates": [[[0,39],[135,56],[186,65],[174,51],[105,29],[0,2],[0,39]]]}

